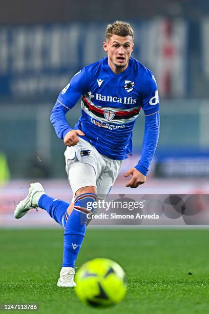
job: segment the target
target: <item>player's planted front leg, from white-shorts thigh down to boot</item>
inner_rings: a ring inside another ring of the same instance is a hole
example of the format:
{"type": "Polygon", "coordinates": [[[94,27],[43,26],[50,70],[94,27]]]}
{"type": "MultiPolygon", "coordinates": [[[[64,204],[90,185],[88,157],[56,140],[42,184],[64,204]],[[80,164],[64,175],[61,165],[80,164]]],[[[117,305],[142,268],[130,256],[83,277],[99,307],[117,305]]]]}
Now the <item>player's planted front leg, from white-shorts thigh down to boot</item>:
{"type": "Polygon", "coordinates": [[[88,202],[95,202],[96,197],[96,171],[93,166],[75,160],[67,161],[69,183],[74,194],[74,204],[67,210],[67,222],[64,231],[64,253],[59,287],[73,287],[74,266],[82,241],[85,237],[88,202]]]}

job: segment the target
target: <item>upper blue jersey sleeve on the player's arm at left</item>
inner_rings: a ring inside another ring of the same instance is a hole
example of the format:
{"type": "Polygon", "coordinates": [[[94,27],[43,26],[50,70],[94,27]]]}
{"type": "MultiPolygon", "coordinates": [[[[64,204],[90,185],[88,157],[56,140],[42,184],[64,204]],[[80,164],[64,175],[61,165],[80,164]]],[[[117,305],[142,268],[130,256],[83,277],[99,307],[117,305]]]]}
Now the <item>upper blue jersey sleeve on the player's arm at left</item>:
{"type": "Polygon", "coordinates": [[[71,109],[87,90],[86,70],[82,68],[72,77],[70,83],[62,89],[57,101],[67,109],[71,109]]]}

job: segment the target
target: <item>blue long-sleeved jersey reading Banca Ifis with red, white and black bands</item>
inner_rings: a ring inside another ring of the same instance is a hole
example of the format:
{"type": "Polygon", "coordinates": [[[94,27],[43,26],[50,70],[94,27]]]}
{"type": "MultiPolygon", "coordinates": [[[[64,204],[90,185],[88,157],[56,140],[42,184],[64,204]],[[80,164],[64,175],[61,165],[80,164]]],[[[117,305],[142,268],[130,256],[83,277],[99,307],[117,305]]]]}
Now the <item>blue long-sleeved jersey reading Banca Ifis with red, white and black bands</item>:
{"type": "Polygon", "coordinates": [[[159,137],[159,97],[153,73],[134,58],[126,70],[115,74],[108,57],[82,68],[59,93],[51,113],[57,136],[63,139],[72,130],[66,113],[80,96],[81,116],[74,129],[99,151],[115,160],[132,153],[132,130],[141,108],[145,129],[141,159],[135,166],[147,175],[159,137]]]}

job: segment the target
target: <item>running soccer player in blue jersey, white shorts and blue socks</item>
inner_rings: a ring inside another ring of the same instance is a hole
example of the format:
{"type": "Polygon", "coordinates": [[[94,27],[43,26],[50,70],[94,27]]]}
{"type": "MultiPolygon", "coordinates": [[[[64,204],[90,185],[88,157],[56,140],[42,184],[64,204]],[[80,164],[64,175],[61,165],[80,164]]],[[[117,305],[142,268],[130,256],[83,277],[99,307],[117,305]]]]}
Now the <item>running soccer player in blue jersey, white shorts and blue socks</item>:
{"type": "MultiPolygon", "coordinates": [[[[59,287],[72,287],[75,261],[85,237],[88,202],[108,195],[122,161],[132,153],[132,130],[141,108],[145,129],[141,158],[124,176],[126,186],[143,184],[159,136],[159,97],[153,73],[131,57],[133,29],[126,22],[107,26],[103,49],[107,57],[83,67],[59,93],[51,112],[58,138],[64,139],[66,171],[74,201],[49,197],[40,183],[33,183],[27,197],[14,211],[21,218],[31,208],[43,208],[64,229],[64,254],[59,287]],[[80,96],[81,116],[72,129],[66,113],[80,96]]],[[[88,215],[89,217],[89,215],[88,215]]]]}

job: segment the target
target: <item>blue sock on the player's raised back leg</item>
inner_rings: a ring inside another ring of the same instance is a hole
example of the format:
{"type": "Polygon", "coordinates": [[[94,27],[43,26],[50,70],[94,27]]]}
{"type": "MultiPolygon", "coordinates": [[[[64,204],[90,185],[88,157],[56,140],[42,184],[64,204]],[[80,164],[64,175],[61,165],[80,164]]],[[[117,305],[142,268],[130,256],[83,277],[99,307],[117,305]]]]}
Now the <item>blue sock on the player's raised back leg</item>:
{"type": "Polygon", "coordinates": [[[38,207],[45,209],[64,228],[68,220],[67,208],[69,205],[64,201],[50,198],[46,194],[41,195],[38,201],[38,207]]]}

